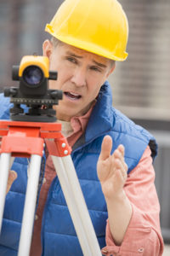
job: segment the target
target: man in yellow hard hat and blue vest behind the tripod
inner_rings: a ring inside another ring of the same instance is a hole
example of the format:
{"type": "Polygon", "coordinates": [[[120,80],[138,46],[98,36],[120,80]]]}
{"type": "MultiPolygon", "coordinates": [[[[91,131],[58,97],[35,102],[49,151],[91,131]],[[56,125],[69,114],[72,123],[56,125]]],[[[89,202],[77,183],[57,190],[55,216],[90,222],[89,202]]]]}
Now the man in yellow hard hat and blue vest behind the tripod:
{"type": "MultiPolygon", "coordinates": [[[[50,88],[64,92],[56,107],[57,119],[72,146],[71,157],[102,253],[161,255],[160,208],[152,166],[156,142],[112,108],[106,82],[115,61],[127,58],[128,26],[122,6],[116,0],[66,0],[46,31],[52,39],[43,43],[43,55],[49,58],[50,70],[58,72],[50,88]]],[[[6,100],[2,97],[1,102],[6,100]]],[[[8,109],[1,118],[8,119],[8,109]]],[[[15,172],[9,174],[0,236],[3,256],[17,255],[26,169],[26,161],[16,159],[15,172]]],[[[82,255],[48,153],[44,175],[31,255],[82,255]]]]}

